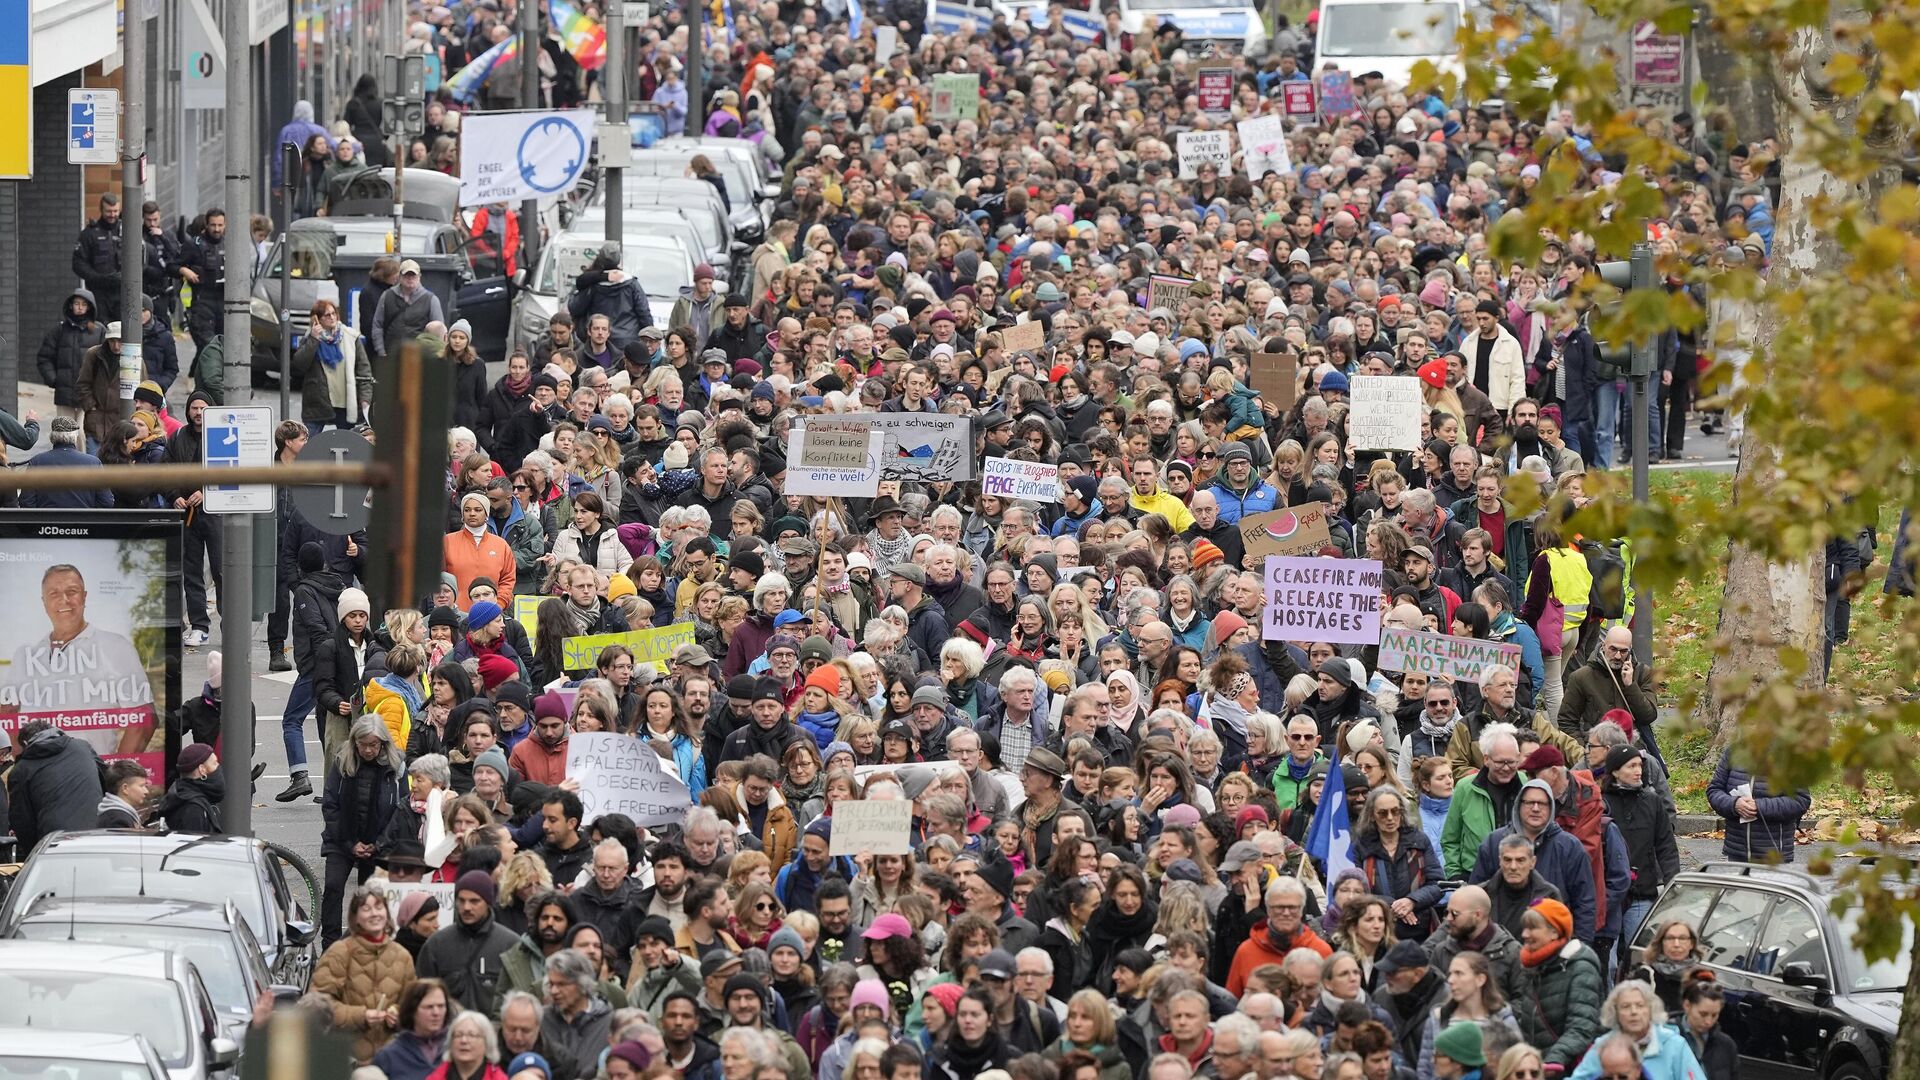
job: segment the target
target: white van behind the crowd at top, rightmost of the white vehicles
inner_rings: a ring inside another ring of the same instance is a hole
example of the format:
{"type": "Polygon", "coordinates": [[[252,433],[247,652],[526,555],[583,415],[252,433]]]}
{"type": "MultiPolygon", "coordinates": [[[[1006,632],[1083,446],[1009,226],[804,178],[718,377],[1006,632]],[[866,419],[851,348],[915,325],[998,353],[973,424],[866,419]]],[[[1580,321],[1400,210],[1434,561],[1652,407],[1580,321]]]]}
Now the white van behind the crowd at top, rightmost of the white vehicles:
{"type": "Polygon", "coordinates": [[[1329,63],[1354,75],[1379,71],[1396,90],[1421,60],[1463,75],[1453,35],[1467,15],[1465,0],[1321,0],[1319,13],[1315,71],[1329,63]]]}

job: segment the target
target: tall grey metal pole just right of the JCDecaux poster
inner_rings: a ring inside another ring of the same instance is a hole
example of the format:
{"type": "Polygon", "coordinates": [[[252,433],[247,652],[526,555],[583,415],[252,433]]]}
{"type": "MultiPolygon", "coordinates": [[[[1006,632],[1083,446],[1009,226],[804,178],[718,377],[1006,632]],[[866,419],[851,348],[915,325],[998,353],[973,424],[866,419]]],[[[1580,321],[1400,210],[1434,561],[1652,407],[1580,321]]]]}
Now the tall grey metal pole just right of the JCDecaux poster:
{"type": "MultiPolygon", "coordinates": [[[[223,404],[253,400],[253,54],[248,42],[248,4],[227,4],[221,31],[227,38],[227,290],[223,294],[223,404]]],[[[292,177],[288,177],[292,183],[292,177]]],[[[198,498],[198,496],[196,496],[198,498]]],[[[194,517],[202,507],[194,505],[194,517]]],[[[227,834],[253,832],[253,515],[221,519],[221,751],[227,798],[221,817],[227,834]]]]}

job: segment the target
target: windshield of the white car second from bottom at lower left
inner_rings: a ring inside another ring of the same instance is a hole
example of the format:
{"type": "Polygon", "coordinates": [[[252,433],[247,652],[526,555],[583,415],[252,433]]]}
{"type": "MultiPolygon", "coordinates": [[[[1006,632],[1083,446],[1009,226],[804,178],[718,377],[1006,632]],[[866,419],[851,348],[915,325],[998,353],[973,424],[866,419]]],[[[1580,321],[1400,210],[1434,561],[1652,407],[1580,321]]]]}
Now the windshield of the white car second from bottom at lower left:
{"type": "Polygon", "coordinates": [[[167,1065],[186,1065],[186,1009],[171,982],[127,974],[0,970],[0,1026],[94,1032],[102,1019],[109,1019],[115,1032],[146,1036],[167,1065]]]}

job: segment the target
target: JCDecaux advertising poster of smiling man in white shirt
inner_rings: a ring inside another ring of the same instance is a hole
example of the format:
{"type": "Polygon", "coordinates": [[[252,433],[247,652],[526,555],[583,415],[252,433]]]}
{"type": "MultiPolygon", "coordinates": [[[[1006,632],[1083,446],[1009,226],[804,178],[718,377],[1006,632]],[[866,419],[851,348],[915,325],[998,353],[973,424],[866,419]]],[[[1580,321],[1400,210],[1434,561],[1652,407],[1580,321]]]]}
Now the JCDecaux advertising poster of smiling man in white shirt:
{"type": "Polygon", "coordinates": [[[165,773],[179,703],[179,521],[142,513],[0,515],[0,730],[48,721],[104,759],[165,773]]]}

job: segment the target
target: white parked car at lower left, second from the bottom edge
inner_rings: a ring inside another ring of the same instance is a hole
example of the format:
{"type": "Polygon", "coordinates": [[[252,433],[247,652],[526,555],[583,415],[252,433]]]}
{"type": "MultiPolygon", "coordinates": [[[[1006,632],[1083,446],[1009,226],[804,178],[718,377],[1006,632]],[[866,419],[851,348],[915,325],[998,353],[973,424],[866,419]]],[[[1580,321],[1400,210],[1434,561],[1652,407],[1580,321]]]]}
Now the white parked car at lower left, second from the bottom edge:
{"type": "Polygon", "coordinates": [[[232,1076],[240,1063],[192,961],[163,949],[0,942],[0,1026],[146,1036],[169,1080],[232,1076]]]}

